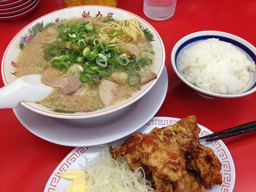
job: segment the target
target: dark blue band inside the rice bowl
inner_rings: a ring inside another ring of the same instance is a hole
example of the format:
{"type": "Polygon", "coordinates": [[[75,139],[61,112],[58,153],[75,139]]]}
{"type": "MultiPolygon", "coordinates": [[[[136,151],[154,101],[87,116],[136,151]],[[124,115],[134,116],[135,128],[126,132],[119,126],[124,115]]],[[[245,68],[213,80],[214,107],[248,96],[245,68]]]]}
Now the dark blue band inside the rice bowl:
{"type": "MultiPolygon", "coordinates": [[[[185,41],[184,43],[182,43],[178,47],[178,49],[177,49],[177,51],[176,51],[176,53],[174,55],[175,67],[177,69],[179,69],[178,63],[177,63],[177,58],[178,58],[179,53],[181,52],[181,50],[184,47],[186,47],[187,45],[189,45],[191,43],[194,43],[194,42],[197,42],[197,41],[206,40],[206,39],[209,39],[209,38],[218,38],[220,41],[231,43],[231,44],[239,47],[240,49],[242,49],[245,53],[247,53],[251,57],[251,59],[254,61],[255,65],[256,65],[256,55],[247,46],[245,46],[244,44],[242,44],[242,43],[240,43],[240,42],[238,42],[238,41],[236,41],[234,39],[228,38],[228,37],[223,37],[223,36],[218,36],[218,35],[203,35],[203,36],[197,36],[197,37],[193,37],[191,39],[188,39],[187,41],[185,41]]],[[[250,89],[246,90],[245,92],[252,90],[255,86],[256,86],[256,82],[254,83],[254,85],[252,85],[252,87],[250,89]]],[[[239,93],[239,94],[241,94],[241,93],[239,93]]]]}

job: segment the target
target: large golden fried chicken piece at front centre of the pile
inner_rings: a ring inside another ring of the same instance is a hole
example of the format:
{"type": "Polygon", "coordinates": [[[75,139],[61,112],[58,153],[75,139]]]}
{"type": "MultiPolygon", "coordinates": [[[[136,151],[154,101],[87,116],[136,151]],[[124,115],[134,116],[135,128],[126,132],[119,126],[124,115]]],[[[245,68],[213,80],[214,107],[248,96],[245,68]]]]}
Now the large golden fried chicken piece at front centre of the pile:
{"type": "Polygon", "coordinates": [[[185,153],[179,149],[176,141],[169,139],[172,136],[173,132],[169,129],[154,128],[142,137],[137,150],[142,163],[149,167],[153,175],[177,181],[185,171],[185,162],[182,161],[185,153]]]}

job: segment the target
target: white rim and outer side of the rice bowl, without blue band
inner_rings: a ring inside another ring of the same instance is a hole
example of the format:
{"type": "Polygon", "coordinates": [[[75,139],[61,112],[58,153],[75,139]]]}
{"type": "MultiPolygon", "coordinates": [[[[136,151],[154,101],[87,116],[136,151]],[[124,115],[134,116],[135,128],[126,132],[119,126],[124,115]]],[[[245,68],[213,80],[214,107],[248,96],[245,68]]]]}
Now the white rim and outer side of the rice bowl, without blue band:
{"type": "MultiPolygon", "coordinates": [[[[173,68],[175,74],[181,79],[181,81],[183,83],[188,85],[190,88],[194,89],[196,91],[196,93],[198,93],[199,95],[201,95],[202,97],[205,97],[205,98],[238,98],[238,97],[243,97],[245,95],[249,95],[249,94],[255,92],[256,91],[256,86],[255,86],[256,83],[253,85],[254,87],[252,89],[247,90],[247,91],[242,92],[242,93],[237,93],[237,94],[213,93],[213,92],[210,92],[210,91],[203,90],[203,89],[201,89],[201,88],[191,84],[190,82],[188,82],[185,79],[185,77],[183,77],[180,74],[180,72],[179,72],[179,70],[177,68],[178,63],[176,63],[176,60],[177,60],[178,54],[181,51],[181,49],[186,46],[185,43],[189,44],[189,42],[192,41],[191,39],[194,39],[194,38],[197,38],[197,37],[204,37],[206,39],[206,38],[210,38],[210,37],[213,38],[213,36],[214,37],[218,36],[220,38],[231,39],[232,41],[234,41],[234,42],[236,42],[238,44],[241,44],[241,46],[243,46],[244,49],[249,51],[249,55],[250,56],[252,55],[252,59],[253,59],[255,65],[256,65],[256,48],[251,43],[246,41],[245,39],[243,39],[243,38],[241,38],[239,36],[236,36],[234,34],[230,34],[230,33],[224,32],[224,31],[203,30],[203,31],[196,31],[194,33],[191,33],[191,34],[188,34],[188,35],[182,37],[173,46],[173,49],[172,49],[172,52],[171,52],[171,65],[172,65],[172,68],[173,68]],[[181,46],[183,46],[183,47],[181,47],[181,46]],[[177,53],[177,51],[178,51],[178,53],[177,53]]],[[[195,41],[193,41],[193,42],[195,42],[195,41]]],[[[254,71],[254,74],[255,73],[256,72],[254,71]]]]}

